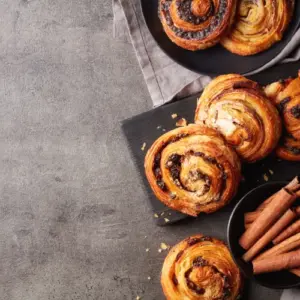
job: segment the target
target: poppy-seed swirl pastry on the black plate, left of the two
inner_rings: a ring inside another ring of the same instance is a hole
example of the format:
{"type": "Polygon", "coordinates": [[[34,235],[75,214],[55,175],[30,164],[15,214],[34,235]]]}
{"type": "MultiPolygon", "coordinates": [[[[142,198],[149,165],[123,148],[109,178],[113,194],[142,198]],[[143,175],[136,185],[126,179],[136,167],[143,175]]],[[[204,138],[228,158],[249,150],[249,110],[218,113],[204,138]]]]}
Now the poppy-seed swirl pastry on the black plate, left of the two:
{"type": "Polygon", "coordinates": [[[168,37],[188,50],[206,49],[228,32],[236,0],[160,0],[159,17],[168,37]]]}

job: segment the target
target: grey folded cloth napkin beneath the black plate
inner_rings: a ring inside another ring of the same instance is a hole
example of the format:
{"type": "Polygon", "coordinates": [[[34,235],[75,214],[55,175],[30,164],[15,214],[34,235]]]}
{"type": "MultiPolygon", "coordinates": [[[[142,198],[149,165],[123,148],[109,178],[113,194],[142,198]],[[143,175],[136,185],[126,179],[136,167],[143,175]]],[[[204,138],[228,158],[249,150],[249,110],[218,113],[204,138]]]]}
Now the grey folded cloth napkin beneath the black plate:
{"type": "MultiPolygon", "coordinates": [[[[180,99],[196,94],[208,84],[209,76],[199,75],[180,66],[159,48],[144,22],[140,0],[112,1],[114,36],[124,42],[132,42],[154,106],[162,105],[174,97],[180,99]]],[[[283,62],[298,60],[299,45],[300,29],[277,57],[251,74],[283,60],[283,62]],[[285,59],[291,53],[292,57],[285,59]]]]}

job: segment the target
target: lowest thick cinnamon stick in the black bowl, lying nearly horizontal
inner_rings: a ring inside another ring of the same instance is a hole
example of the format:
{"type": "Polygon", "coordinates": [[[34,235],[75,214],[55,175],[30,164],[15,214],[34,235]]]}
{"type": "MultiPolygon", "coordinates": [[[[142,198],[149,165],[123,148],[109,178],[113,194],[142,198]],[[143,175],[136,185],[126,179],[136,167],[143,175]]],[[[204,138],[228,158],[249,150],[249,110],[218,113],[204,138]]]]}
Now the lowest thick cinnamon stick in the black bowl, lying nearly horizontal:
{"type": "Polygon", "coordinates": [[[255,260],[253,262],[253,273],[269,273],[298,267],[300,267],[300,250],[255,260]]]}

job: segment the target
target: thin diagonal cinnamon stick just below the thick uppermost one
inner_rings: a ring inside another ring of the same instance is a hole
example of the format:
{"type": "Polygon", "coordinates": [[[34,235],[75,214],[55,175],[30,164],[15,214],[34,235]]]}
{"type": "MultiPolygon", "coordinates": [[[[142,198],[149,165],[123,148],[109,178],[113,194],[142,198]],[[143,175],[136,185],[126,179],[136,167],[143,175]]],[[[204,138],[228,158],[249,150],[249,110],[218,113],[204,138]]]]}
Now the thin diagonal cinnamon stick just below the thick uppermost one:
{"type": "Polygon", "coordinates": [[[243,255],[243,259],[245,261],[250,261],[296,217],[296,213],[293,210],[288,209],[285,214],[243,255]]]}

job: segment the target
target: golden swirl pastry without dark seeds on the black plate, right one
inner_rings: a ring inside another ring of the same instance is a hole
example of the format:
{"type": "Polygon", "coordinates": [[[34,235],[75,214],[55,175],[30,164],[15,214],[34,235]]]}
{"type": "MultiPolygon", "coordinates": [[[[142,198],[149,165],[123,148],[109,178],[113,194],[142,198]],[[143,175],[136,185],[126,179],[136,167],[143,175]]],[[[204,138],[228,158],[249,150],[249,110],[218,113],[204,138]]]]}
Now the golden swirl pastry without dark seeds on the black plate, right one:
{"type": "Polygon", "coordinates": [[[294,0],[240,0],[230,33],[221,44],[238,55],[253,55],[282,39],[294,0]]]}

